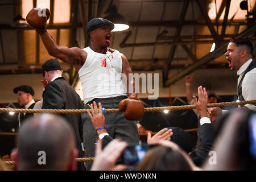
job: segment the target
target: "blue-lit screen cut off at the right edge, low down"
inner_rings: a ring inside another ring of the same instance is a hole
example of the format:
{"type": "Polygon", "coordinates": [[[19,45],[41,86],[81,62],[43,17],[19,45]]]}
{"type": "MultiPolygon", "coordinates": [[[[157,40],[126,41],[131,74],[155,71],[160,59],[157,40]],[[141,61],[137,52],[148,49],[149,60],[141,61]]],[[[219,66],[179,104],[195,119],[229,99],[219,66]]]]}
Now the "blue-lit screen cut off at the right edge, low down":
{"type": "Polygon", "coordinates": [[[256,159],[256,114],[253,114],[249,121],[249,142],[250,154],[256,159]]]}

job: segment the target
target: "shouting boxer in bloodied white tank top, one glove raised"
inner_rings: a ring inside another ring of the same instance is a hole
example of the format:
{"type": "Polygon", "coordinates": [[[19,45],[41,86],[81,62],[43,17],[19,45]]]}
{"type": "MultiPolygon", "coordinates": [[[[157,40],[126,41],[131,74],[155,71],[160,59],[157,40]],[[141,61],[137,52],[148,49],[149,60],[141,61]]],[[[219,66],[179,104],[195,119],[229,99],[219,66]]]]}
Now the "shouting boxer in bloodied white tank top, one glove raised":
{"type": "MultiPolygon", "coordinates": [[[[40,34],[49,55],[57,57],[65,63],[72,64],[76,68],[84,92],[85,109],[90,109],[88,104],[92,104],[93,101],[96,101],[97,104],[101,102],[105,109],[118,108],[119,102],[126,99],[127,96],[130,98],[130,103],[137,101],[137,93],[134,92],[134,89],[133,92],[126,93],[122,84],[121,74],[124,74],[127,78],[127,90],[129,90],[129,85],[133,85],[133,88],[135,88],[134,80],[128,81],[129,73],[132,72],[127,58],[119,51],[108,48],[110,46],[111,30],[114,28],[112,22],[103,18],[90,20],[86,25],[90,46],[84,49],[78,47],[68,48],[58,46],[47,31],[46,21],[49,18],[49,10],[46,11],[47,18],[45,17],[44,22],[42,17],[38,17],[39,10],[32,9],[28,13],[26,20],[40,34]],[[41,25],[39,26],[40,23],[41,25]],[[109,79],[106,80],[106,77],[109,79]]],[[[140,110],[141,108],[130,107],[130,109],[140,110]]],[[[126,113],[127,110],[126,107],[126,113]]],[[[141,110],[144,112],[144,107],[141,110]]],[[[85,156],[93,157],[94,143],[96,143],[98,135],[89,115],[83,114],[82,119],[85,156]]],[[[135,121],[125,119],[123,113],[106,113],[105,119],[106,127],[108,127],[107,131],[111,137],[121,138],[128,143],[139,143],[138,128],[135,121]]],[[[90,168],[90,165],[91,162],[86,163],[87,169],[90,168]]]]}

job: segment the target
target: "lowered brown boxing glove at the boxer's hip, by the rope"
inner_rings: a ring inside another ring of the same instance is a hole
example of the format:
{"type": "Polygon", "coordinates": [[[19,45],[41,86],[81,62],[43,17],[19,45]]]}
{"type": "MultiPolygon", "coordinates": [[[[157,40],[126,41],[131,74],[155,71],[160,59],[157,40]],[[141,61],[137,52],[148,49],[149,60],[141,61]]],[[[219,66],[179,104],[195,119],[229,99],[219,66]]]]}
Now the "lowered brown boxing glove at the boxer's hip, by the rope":
{"type": "Polygon", "coordinates": [[[137,97],[129,97],[119,102],[119,110],[125,110],[125,119],[140,120],[144,115],[144,105],[137,97]]]}

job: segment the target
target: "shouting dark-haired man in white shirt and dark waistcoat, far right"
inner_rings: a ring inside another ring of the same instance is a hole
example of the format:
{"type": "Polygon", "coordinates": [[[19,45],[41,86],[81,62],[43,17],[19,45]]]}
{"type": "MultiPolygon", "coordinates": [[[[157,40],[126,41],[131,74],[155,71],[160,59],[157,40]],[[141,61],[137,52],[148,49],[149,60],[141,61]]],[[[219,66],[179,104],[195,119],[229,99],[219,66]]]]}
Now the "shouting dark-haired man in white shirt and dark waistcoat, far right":
{"type": "MultiPolygon", "coordinates": [[[[237,71],[237,95],[240,101],[256,100],[256,62],[252,59],[253,44],[248,39],[232,39],[225,53],[231,70],[237,71]]],[[[243,106],[243,105],[242,105],[243,106]]],[[[246,109],[256,111],[256,105],[246,104],[246,109]]],[[[220,115],[220,107],[212,108],[212,117],[220,115]]]]}

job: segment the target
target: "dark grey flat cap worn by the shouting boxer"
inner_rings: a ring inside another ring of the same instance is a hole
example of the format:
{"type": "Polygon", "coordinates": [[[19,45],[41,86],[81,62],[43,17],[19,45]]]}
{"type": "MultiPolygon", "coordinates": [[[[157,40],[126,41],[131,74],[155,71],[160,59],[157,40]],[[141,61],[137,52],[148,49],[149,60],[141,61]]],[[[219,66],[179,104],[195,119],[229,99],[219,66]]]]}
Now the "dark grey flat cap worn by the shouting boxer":
{"type": "Polygon", "coordinates": [[[89,36],[90,32],[93,31],[95,28],[108,25],[110,30],[114,29],[114,23],[110,22],[110,20],[104,19],[104,18],[93,18],[89,20],[89,22],[86,24],[86,33],[89,36]]]}

